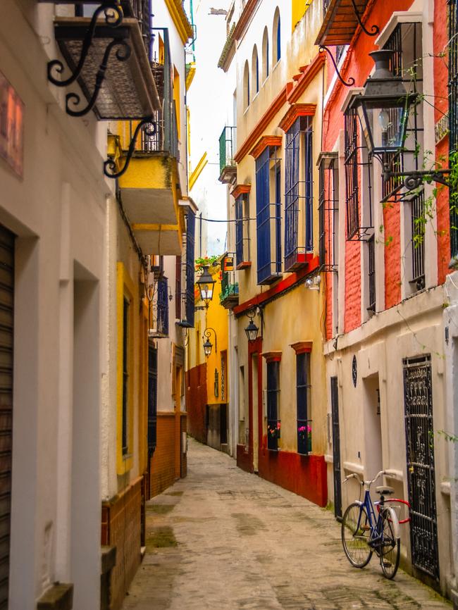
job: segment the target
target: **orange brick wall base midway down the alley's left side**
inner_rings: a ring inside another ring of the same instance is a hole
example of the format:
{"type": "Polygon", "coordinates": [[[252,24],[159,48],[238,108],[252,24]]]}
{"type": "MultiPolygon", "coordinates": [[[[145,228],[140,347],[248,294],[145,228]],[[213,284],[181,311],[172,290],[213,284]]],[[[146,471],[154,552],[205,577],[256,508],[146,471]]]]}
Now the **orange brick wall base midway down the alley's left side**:
{"type": "MultiPolygon", "coordinates": [[[[157,414],[157,444],[151,457],[149,468],[149,490],[151,497],[166,490],[180,476],[176,474],[175,452],[177,434],[175,430],[175,413],[157,414]]],[[[179,436],[180,428],[178,428],[179,436]]],[[[180,459],[180,454],[178,454],[180,459]]]]}

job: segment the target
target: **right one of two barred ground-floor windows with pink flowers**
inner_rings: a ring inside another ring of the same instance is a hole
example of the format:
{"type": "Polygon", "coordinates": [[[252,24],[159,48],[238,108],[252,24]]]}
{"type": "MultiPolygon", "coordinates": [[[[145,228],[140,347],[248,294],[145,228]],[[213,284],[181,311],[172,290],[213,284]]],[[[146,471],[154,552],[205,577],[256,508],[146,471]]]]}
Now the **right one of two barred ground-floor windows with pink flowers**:
{"type": "Polygon", "coordinates": [[[310,353],[296,354],[297,453],[311,452],[310,353]]]}

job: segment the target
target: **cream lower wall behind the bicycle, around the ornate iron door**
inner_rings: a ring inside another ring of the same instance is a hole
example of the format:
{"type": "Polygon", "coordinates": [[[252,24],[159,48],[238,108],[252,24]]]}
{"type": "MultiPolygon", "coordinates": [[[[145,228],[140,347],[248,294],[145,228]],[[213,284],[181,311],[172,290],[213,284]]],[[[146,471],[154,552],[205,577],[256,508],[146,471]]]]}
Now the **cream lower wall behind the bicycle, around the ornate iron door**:
{"type": "MultiPolygon", "coordinates": [[[[338,349],[333,342],[325,345],[326,394],[330,412],[330,377],[338,376],[340,410],[340,463],[342,481],[345,475],[357,472],[371,478],[378,471],[372,448],[376,444],[369,430],[368,397],[364,382],[378,375],[380,387],[380,428],[382,461],[380,470],[390,471],[388,485],[395,497],[408,499],[407,454],[404,425],[404,380],[402,360],[431,354],[434,411],[435,485],[439,532],[439,561],[442,585],[452,570],[450,552],[450,448],[438,430],[449,427],[445,405],[445,347],[443,343],[442,287],[428,290],[399,306],[378,313],[357,330],[339,337],[338,349]],[[352,359],[357,357],[357,387],[352,383],[352,359]]],[[[328,475],[333,481],[333,448],[328,444],[328,475]]],[[[328,487],[333,501],[333,487],[328,487]]],[[[342,485],[342,506],[358,497],[357,485],[342,485]]],[[[401,528],[401,550],[404,556],[410,546],[407,528],[401,528]]]]}

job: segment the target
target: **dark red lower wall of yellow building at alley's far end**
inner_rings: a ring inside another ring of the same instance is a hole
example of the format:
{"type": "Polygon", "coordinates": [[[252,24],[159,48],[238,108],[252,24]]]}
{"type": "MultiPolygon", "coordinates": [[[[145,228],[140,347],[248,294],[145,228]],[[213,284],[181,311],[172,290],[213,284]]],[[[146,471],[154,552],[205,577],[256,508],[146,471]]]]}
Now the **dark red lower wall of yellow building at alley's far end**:
{"type": "Polygon", "coordinates": [[[187,431],[199,442],[206,443],[206,364],[186,371],[187,431]]]}

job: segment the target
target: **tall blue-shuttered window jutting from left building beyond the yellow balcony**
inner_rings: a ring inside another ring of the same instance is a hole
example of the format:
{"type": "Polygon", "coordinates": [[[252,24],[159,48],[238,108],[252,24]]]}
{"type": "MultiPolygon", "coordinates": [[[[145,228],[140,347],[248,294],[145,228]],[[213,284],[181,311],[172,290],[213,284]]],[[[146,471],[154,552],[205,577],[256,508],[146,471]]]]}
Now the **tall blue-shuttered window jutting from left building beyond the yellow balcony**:
{"type": "MultiPolygon", "coordinates": [[[[181,292],[177,304],[177,318],[180,326],[194,327],[194,241],[196,216],[191,208],[186,215],[185,256],[181,265],[180,290],[183,285],[185,292],[181,292]],[[179,306],[178,306],[179,305],[179,306]]],[[[180,259],[181,261],[183,259],[180,259]]]]}

